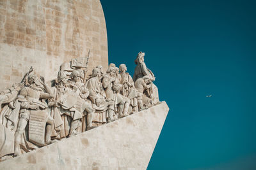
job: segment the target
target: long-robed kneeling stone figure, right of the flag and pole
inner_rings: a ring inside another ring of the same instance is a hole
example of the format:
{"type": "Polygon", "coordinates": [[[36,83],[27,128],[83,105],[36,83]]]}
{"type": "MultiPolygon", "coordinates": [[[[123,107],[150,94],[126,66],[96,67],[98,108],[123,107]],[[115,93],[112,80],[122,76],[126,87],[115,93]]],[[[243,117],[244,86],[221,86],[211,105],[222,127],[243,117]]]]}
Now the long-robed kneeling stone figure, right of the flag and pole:
{"type": "Polygon", "coordinates": [[[101,83],[102,73],[100,69],[94,68],[92,70],[92,78],[86,82],[86,88],[90,90],[89,98],[92,101],[93,109],[93,124],[99,126],[113,121],[115,114],[114,101],[106,99],[106,94],[101,83]]]}

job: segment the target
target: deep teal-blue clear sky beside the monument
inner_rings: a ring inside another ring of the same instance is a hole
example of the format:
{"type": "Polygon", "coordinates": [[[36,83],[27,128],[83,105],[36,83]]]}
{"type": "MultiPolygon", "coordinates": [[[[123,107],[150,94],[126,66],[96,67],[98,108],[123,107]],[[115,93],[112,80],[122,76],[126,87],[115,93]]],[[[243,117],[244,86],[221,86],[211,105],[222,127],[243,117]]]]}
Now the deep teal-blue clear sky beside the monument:
{"type": "Polygon", "coordinates": [[[256,169],[256,1],[101,3],[109,62],[145,52],[170,107],[148,169],[256,169]]]}

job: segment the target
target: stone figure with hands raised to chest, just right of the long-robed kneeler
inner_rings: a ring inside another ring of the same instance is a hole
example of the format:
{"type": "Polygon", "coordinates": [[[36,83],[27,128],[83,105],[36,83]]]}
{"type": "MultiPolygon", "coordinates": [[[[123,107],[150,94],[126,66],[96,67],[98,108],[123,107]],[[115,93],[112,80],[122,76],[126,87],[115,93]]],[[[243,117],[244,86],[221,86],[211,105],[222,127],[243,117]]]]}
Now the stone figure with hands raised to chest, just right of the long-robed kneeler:
{"type": "MultiPolygon", "coordinates": [[[[122,85],[118,82],[119,80],[116,78],[115,67],[109,67],[107,73],[103,77],[102,85],[105,89],[107,99],[115,101],[115,106],[118,106],[118,108],[116,107],[118,117],[122,118],[128,115],[130,100],[119,93],[122,85]]],[[[111,115],[110,118],[111,117],[113,117],[113,115],[111,115]]],[[[115,117],[115,119],[118,117],[115,117]]]]}

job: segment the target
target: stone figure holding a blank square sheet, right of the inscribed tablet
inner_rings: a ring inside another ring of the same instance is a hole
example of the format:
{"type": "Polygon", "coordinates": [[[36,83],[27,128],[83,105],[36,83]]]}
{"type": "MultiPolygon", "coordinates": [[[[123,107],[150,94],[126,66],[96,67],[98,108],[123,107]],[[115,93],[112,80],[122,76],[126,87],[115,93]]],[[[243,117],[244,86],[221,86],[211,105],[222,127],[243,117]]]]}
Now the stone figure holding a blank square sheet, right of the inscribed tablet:
{"type": "Polygon", "coordinates": [[[53,138],[61,139],[76,134],[81,126],[83,115],[76,110],[77,94],[72,92],[63,71],[58,73],[58,83],[52,89],[54,98],[50,99],[51,117],[54,118],[53,138]]]}

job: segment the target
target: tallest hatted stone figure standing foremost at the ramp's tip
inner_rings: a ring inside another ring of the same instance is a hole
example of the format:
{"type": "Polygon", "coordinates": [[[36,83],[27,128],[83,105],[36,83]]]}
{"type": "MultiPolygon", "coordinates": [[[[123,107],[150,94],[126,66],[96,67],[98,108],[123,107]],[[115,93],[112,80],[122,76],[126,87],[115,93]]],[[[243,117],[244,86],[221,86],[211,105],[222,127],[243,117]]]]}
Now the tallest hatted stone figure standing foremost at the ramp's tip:
{"type": "MultiPolygon", "coordinates": [[[[145,62],[144,62],[145,53],[140,52],[137,55],[136,60],[134,61],[137,65],[134,70],[134,76],[133,81],[136,82],[138,78],[142,78],[143,76],[148,76],[150,78],[150,81],[155,81],[156,77],[152,73],[150,69],[147,68],[145,62]]],[[[148,97],[152,99],[153,104],[159,103],[159,97],[158,97],[158,89],[154,83],[152,83],[152,87],[148,90],[148,97]]]]}

